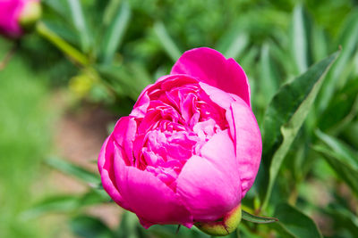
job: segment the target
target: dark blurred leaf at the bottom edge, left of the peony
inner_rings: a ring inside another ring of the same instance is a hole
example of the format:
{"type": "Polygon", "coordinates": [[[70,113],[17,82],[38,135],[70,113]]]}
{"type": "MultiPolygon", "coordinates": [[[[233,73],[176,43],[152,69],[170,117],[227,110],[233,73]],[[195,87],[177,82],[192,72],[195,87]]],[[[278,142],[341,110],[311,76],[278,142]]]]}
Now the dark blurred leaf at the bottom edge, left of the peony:
{"type": "Polygon", "coordinates": [[[83,238],[115,237],[113,232],[97,217],[81,215],[71,219],[69,223],[72,233],[83,238]]]}

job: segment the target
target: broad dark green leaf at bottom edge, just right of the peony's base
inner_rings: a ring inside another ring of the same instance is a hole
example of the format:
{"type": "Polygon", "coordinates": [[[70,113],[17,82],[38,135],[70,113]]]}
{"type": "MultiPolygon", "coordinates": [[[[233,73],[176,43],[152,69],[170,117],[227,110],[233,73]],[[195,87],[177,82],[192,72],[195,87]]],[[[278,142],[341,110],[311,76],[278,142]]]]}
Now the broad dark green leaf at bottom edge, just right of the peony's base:
{"type": "Polygon", "coordinates": [[[283,237],[297,238],[319,238],[322,237],[320,230],[311,217],[303,214],[286,203],[279,204],[275,211],[275,217],[279,219],[277,223],[268,225],[277,230],[283,237]]]}

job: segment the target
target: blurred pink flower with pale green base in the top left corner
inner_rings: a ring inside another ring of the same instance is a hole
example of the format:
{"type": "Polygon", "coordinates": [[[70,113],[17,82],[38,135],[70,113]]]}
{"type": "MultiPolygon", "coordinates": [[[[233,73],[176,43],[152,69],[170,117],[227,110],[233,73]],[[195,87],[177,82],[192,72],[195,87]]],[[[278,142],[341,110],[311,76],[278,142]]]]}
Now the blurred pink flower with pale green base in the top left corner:
{"type": "Polygon", "coordinates": [[[32,27],[41,15],[38,0],[0,0],[0,34],[17,38],[32,27]]]}

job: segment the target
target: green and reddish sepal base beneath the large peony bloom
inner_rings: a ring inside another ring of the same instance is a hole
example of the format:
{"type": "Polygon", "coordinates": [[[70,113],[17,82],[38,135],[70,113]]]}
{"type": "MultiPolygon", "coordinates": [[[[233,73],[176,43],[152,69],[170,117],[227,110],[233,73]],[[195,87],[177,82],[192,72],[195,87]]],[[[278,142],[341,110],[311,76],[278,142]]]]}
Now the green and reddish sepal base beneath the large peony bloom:
{"type": "Polygon", "coordinates": [[[211,222],[197,222],[194,225],[197,226],[200,231],[214,236],[225,236],[231,234],[236,230],[241,222],[241,205],[232,209],[221,219],[211,222]]]}

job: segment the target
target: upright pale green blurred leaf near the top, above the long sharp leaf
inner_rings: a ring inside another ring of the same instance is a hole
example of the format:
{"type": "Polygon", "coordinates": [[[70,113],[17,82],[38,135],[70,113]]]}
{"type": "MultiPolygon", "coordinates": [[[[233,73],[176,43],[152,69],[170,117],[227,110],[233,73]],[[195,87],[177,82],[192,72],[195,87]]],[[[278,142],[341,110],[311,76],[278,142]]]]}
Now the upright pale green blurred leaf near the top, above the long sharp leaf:
{"type": "Polygon", "coordinates": [[[311,65],[311,21],[301,4],[294,7],[290,42],[296,68],[303,73],[311,65]]]}

